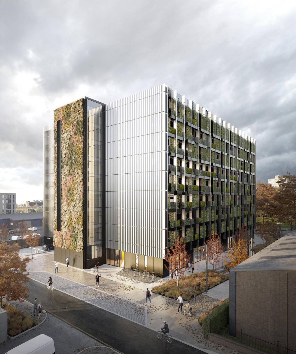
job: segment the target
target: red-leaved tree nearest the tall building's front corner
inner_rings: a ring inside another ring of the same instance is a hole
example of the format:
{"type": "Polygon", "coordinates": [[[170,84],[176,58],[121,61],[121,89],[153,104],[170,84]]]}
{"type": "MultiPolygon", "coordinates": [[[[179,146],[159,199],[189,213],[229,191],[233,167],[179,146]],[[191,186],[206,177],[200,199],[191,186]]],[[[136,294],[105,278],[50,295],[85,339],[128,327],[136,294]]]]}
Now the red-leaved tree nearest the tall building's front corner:
{"type": "Polygon", "coordinates": [[[190,255],[186,251],[186,245],[181,243],[180,238],[178,237],[168,248],[167,254],[165,256],[165,261],[168,264],[165,264],[165,269],[168,269],[170,272],[174,269],[177,272],[177,287],[179,287],[179,274],[184,274],[185,268],[184,265],[190,261],[190,255]]]}

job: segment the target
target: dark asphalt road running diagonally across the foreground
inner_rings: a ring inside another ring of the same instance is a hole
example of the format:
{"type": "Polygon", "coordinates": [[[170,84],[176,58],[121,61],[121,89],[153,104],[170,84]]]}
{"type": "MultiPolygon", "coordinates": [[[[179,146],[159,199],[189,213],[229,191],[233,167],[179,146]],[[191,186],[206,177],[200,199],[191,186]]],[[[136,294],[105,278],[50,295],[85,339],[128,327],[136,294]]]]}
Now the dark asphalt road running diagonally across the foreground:
{"type": "Polygon", "coordinates": [[[37,297],[46,311],[120,353],[205,353],[176,340],[168,343],[164,338],[157,338],[153,330],[58,290],[48,290],[34,280],[30,280],[27,286],[28,301],[33,302],[37,297]]]}

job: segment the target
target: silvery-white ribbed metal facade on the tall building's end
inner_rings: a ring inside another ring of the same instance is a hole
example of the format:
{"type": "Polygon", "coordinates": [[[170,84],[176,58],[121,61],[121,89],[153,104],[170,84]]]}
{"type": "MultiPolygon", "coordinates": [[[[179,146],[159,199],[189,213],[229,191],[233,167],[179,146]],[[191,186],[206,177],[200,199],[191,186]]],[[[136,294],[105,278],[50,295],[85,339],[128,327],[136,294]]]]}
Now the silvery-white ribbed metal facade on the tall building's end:
{"type": "Polygon", "coordinates": [[[165,255],[165,85],[106,105],[106,247],[165,255]]]}

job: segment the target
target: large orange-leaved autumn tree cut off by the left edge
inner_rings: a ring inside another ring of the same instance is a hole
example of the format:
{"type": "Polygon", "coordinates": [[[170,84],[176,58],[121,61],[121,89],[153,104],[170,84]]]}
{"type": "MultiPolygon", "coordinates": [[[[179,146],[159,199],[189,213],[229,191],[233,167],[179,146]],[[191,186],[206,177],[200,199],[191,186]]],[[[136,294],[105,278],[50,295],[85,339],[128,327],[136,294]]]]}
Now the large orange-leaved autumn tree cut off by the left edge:
{"type": "Polygon", "coordinates": [[[0,307],[2,300],[23,302],[22,297],[27,297],[29,289],[23,286],[30,279],[27,273],[29,258],[21,258],[17,243],[8,245],[0,242],[0,307]]]}

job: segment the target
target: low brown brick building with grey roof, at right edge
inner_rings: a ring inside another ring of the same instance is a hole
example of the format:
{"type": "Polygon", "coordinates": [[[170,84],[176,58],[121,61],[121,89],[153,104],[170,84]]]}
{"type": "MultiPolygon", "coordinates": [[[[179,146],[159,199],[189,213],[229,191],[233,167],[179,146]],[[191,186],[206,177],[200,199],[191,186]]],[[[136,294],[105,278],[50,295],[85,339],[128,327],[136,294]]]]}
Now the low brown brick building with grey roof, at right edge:
{"type": "Polygon", "coordinates": [[[294,231],[230,270],[230,335],[296,350],[295,251],[294,231]]]}

